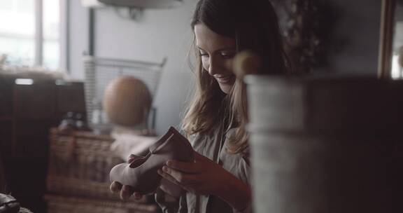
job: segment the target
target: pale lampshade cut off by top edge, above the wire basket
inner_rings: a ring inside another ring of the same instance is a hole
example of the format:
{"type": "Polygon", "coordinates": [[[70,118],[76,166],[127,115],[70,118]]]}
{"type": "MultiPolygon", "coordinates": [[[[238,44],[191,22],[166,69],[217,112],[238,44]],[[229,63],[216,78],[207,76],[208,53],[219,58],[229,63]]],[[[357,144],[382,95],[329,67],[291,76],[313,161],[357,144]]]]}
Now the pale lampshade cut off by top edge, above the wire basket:
{"type": "Polygon", "coordinates": [[[181,6],[182,0],[99,0],[104,4],[132,8],[174,8],[181,6]]]}

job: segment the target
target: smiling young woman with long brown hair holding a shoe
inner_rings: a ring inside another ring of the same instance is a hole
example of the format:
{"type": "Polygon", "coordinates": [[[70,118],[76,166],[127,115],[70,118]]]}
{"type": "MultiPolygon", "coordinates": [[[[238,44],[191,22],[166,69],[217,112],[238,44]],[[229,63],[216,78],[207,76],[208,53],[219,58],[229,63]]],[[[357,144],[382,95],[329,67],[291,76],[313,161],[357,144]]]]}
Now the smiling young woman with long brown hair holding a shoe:
{"type": "MultiPolygon", "coordinates": [[[[251,212],[250,163],[245,84],[236,78],[237,53],[251,50],[261,59],[259,74],[285,74],[278,20],[269,0],[200,0],[191,22],[197,51],[196,92],[182,129],[195,149],[195,162],[169,160],[158,173],[185,189],[163,212],[251,212]]],[[[134,193],[114,182],[122,198],[134,193]]]]}

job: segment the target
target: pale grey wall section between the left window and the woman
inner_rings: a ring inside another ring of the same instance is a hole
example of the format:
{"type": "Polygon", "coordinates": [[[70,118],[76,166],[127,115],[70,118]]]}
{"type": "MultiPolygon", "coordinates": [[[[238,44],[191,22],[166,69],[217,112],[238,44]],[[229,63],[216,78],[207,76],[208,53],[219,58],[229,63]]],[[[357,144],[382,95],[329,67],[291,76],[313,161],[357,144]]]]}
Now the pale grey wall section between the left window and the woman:
{"type": "MultiPolygon", "coordinates": [[[[71,2],[71,74],[83,78],[81,55],[87,51],[88,11],[71,2]]],[[[196,1],[179,8],[146,10],[140,20],[118,14],[125,10],[98,8],[95,11],[94,47],[98,57],[161,62],[168,58],[155,95],[156,130],[162,134],[170,125],[178,127],[190,88],[187,54],[192,42],[190,19],[196,1]]]]}

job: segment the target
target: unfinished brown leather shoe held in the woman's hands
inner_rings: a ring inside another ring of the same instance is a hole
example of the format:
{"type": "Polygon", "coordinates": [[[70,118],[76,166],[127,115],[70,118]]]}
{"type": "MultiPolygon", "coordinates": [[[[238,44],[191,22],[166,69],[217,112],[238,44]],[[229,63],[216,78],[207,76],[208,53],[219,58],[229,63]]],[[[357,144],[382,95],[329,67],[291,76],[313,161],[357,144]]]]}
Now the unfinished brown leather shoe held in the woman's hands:
{"type": "Polygon", "coordinates": [[[167,160],[192,162],[195,159],[188,139],[173,127],[150,146],[149,150],[147,156],[113,167],[109,174],[111,181],[132,186],[137,193],[152,193],[160,186],[161,176],[157,170],[161,169],[167,160]]]}

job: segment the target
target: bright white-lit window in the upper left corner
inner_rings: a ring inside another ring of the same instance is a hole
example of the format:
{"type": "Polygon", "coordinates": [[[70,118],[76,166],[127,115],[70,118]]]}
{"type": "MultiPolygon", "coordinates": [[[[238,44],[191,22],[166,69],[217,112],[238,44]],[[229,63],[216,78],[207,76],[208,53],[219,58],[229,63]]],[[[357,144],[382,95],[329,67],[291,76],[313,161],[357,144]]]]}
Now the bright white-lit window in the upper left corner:
{"type": "Polygon", "coordinates": [[[0,55],[15,66],[58,69],[60,0],[0,0],[0,55]]]}

